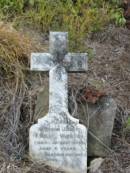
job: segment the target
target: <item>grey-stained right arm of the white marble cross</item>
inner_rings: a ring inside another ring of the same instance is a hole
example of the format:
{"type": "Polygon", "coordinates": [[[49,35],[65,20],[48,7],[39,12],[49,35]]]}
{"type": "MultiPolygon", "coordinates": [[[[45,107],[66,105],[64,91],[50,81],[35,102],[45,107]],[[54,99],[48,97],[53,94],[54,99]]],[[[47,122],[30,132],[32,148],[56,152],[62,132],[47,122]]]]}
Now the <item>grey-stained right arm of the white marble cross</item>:
{"type": "Polygon", "coordinates": [[[63,61],[67,71],[85,72],[88,70],[87,53],[68,53],[63,61]]]}

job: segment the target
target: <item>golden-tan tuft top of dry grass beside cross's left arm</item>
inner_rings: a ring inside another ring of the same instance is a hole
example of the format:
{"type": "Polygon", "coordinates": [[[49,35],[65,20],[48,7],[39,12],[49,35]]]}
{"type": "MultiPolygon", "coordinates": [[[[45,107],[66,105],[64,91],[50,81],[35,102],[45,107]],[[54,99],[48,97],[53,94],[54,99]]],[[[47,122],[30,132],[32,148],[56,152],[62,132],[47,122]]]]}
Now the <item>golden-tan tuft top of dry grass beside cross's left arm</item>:
{"type": "Polygon", "coordinates": [[[22,70],[26,70],[25,65],[28,63],[31,50],[32,45],[28,38],[16,32],[11,25],[1,24],[0,76],[6,79],[22,79],[22,70]]]}

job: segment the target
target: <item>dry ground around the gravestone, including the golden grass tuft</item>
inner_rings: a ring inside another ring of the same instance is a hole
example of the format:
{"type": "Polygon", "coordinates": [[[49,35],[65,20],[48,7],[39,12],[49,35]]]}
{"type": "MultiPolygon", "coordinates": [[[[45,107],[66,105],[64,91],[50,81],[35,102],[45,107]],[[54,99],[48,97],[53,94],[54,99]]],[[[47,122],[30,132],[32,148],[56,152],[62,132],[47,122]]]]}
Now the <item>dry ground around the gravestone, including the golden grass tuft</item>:
{"type": "MultiPolygon", "coordinates": [[[[130,172],[129,40],[130,30],[112,25],[90,35],[84,40],[89,70],[69,74],[70,93],[79,93],[78,99],[83,96],[86,104],[96,104],[102,96],[110,95],[118,105],[112,148],[102,165],[103,173],[130,172]],[[82,95],[82,89],[91,92],[82,95]]],[[[27,28],[17,32],[10,24],[1,23],[0,173],[61,172],[32,163],[28,154],[29,128],[38,118],[34,116],[37,96],[48,83],[48,74],[30,72],[30,54],[47,49],[48,35],[27,28]]]]}

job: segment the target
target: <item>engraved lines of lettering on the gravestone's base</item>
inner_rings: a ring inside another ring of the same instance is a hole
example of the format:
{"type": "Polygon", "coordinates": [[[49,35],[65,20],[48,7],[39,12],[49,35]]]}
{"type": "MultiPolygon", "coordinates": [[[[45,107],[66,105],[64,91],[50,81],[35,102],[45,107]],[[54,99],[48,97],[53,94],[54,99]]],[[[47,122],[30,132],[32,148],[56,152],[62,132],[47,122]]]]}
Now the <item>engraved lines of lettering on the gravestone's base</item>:
{"type": "Polygon", "coordinates": [[[39,134],[35,135],[34,145],[37,145],[38,151],[47,160],[58,161],[62,157],[86,157],[86,152],[84,152],[86,141],[76,126],[56,124],[42,127],[40,130],[39,134]],[[79,146],[83,151],[79,150],[79,146]]]}

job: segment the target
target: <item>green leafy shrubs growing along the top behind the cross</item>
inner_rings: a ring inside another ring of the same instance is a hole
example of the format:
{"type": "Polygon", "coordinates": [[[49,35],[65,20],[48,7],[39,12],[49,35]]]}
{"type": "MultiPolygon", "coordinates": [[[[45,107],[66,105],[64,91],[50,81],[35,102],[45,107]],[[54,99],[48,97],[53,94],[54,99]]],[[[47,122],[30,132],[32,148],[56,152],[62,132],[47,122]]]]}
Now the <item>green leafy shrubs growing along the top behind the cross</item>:
{"type": "Polygon", "coordinates": [[[0,0],[0,9],[7,18],[15,17],[17,24],[26,23],[43,32],[68,31],[71,49],[80,51],[85,50],[83,38],[87,34],[109,22],[125,24],[119,5],[120,0],[0,0]]]}

